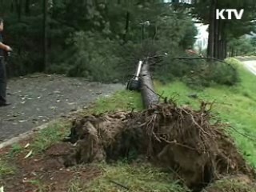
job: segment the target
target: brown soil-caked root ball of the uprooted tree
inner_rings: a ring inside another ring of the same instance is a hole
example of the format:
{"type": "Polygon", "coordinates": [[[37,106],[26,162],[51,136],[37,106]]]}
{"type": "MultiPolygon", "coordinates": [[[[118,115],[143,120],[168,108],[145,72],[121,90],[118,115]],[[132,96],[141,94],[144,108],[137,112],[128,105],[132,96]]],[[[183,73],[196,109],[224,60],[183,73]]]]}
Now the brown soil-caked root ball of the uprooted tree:
{"type": "Polygon", "coordinates": [[[136,151],[158,166],[174,170],[194,191],[227,174],[244,174],[253,180],[254,170],[246,165],[225,126],[210,123],[213,117],[207,105],[191,110],[170,102],[141,113],[75,119],[70,141],[77,146],[65,165],[116,160],[136,151]]]}

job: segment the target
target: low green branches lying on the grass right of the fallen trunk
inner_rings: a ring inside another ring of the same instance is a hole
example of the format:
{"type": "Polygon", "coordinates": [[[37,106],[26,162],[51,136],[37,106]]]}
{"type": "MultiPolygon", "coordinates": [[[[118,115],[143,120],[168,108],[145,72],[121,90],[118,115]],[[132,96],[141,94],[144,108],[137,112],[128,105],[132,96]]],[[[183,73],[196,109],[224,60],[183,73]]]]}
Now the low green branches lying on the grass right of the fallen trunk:
{"type": "Polygon", "coordinates": [[[179,60],[169,56],[156,71],[155,78],[163,83],[181,80],[187,86],[201,89],[214,84],[234,86],[239,82],[235,66],[223,62],[206,62],[205,59],[179,60]]]}

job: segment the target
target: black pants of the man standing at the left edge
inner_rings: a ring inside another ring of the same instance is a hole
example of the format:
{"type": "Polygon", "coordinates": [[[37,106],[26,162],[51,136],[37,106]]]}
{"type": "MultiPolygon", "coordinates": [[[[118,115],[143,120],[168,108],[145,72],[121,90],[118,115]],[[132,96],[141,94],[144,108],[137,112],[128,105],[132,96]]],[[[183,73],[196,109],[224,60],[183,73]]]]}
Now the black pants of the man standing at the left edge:
{"type": "Polygon", "coordinates": [[[0,104],[6,103],[6,64],[3,58],[0,58],[0,104]]]}

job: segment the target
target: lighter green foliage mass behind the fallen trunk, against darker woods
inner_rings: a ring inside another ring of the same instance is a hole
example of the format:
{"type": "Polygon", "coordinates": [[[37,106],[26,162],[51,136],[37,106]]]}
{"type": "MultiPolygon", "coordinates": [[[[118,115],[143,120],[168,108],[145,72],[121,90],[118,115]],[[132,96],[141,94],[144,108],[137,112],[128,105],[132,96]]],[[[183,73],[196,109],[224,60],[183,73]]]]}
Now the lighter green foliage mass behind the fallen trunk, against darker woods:
{"type": "MultiPolygon", "coordinates": [[[[147,6],[152,7],[154,3],[147,6]]],[[[161,7],[160,10],[164,11],[166,7],[161,7]]],[[[144,31],[144,41],[140,39],[141,27],[133,24],[130,26],[129,37],[134,39],[126,38],[125,44],[121,35],[113,37],[116,31],[113,31],[111,22],[105,26],[103,33],[92,30],[75,32],[66,41],[68,48],[65,57],[60,54],[59,61],[50,66],[50,71],[81,76],[92,81],[111,82],[117,79],[120,82],[127,74],[134,74],[138,59],[148,54],[170,52],[177,56],[194,44],[197,31],[186,13],[169,11],[165,18],[158,15],[157,19],[154,18],[154,27],[147,27],[144,31]],[[60,62],[61,65],[58,64],[60,62]]],[[[145,18],[146,15],[150,15],[150,11],[143,10],[142,15],[136,16],[145,18]]]]}

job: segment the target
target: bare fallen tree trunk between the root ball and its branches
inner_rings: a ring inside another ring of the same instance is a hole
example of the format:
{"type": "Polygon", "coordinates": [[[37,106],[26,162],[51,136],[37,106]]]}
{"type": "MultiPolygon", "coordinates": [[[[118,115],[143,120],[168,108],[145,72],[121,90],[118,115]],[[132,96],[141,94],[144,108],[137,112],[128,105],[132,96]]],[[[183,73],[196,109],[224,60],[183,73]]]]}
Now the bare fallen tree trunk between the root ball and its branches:
{"type": "Polygon", "coordinates": [[[142,66],[142,101],[146,109],[158,103],[158,95],[154,91],[154,83],[150,75],[150,66],[145,62],[142,66]]]}

